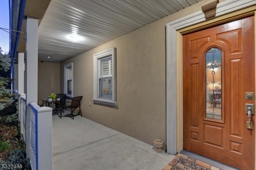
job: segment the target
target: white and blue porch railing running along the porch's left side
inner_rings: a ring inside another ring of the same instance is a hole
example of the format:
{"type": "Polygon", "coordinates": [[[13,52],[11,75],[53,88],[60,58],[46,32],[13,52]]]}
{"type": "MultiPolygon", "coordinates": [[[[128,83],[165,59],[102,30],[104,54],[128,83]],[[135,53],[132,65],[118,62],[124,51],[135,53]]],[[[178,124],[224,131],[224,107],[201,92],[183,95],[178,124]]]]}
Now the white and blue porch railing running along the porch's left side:
{"type": "Polygon", "coordinates": [[[26,95],[19,95],[18,113],[31,168],[52,170],[52,108],[40,107],[34,102],[26,107],[25,98],[26,95]]]}

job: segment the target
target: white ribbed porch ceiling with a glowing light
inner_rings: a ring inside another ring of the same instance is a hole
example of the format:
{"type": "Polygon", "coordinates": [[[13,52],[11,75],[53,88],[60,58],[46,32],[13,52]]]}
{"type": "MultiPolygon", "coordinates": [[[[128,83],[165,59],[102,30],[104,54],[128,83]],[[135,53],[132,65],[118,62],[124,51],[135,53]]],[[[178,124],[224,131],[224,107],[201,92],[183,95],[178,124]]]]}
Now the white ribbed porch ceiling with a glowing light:
{"type": "Polygon", "coordinates": [[[38,30],[38,60],[61,63],[200,1],[52,0],[38,30]]]}

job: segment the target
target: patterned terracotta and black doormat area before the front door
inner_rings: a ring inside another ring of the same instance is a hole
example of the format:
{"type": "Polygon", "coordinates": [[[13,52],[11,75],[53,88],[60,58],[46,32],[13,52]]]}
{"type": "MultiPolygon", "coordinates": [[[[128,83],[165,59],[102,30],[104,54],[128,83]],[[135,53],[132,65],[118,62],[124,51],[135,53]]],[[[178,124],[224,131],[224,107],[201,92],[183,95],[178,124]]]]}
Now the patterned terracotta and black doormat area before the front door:
{"type": "Polygon", "coordinates": [[[215,166],[196,160],[190,156],[178,153],[163,170],[220,170],[215,166]]]}

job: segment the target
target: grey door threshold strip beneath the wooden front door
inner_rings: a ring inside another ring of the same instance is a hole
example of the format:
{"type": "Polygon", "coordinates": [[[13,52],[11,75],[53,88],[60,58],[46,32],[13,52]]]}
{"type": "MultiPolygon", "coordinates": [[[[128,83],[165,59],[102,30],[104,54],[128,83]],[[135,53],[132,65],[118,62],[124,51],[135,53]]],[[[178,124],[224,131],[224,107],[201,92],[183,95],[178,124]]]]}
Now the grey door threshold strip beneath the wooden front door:
{"type": "Polygon", "coordinates": [[[182,151],[180,151],[180,153],[181,153],[181,154],[184,154],[184,155],[186,155],[186,156],[192,157],[192,158],[194,158],[194,159],[196,159],[196,160],[200,160],[200,161],[202,161],[202,162],[204,162],[204,163],[206,163],[206,164],[215,166],[216,168],[220,168],[220,169],[222,169],[222,170],[239,170],[239,169],[233,168],[233,167],[231,167],[231,166],[228,166],[228,165],[226,165],[226,164],[222,164],[222,163],[220,163],[220,162],[217,162],[217,161],[215,161],[215,160],[211,160],[211,159],[206,158],[206,157],[204,157],[204,156],[200,156],[200,155],[198,155],[198,154],[189,152],[189,151],[187,151],[187,150],[182,150],[182,151]]]}

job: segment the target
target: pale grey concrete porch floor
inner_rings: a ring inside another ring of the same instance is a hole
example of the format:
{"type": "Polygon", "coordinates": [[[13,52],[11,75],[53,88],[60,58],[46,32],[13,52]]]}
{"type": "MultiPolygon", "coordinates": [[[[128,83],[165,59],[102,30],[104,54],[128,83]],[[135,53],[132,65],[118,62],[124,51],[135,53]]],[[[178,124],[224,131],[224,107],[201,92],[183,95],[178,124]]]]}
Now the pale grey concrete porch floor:
{"type": "Polygon", "coordinates": [[[162,170],[175,157],[80,115],[52,124],[53,170],[162,170]]]}

